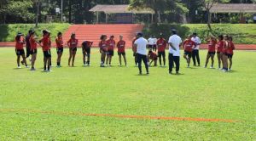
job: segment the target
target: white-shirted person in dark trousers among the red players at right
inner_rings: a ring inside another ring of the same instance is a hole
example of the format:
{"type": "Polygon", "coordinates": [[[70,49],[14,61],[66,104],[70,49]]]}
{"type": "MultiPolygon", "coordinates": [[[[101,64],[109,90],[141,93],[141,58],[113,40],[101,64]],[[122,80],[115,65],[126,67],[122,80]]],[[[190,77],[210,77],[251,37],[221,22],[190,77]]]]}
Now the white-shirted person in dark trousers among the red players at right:
{"type": "Polygon", "coordinates": [[[196,47],[193,48],[193,51],[192,51],[192,59],[193,59],[194,66],[196,66],[195,59],[197,61],[198,66],[200,66],[199,48],[201,45],[201,40],[199,37],[197,37],[196,33],[193,33],[193,37],[191,38],[191,40],[196,43],[196,47]]]}

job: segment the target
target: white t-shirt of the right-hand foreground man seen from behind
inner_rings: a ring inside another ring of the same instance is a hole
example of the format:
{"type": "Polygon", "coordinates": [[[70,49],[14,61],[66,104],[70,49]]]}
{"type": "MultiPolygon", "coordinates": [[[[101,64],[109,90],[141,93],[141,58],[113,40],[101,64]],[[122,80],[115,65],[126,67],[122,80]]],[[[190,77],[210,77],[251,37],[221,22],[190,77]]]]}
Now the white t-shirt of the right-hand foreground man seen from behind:
{"type": "Polygon", "coordinates": [[[172,37],[169,37],[169,41],[168,43],[172,43],[172,46],[174,48],[176,48],[176,50],[174,50],[170,45],[169,45],[169,53],[173,54],[173,56],[180,56],[179,53],[179,45],[182,43],[182,39],[177,36],[177,35],[172,35],[172,37]]]}

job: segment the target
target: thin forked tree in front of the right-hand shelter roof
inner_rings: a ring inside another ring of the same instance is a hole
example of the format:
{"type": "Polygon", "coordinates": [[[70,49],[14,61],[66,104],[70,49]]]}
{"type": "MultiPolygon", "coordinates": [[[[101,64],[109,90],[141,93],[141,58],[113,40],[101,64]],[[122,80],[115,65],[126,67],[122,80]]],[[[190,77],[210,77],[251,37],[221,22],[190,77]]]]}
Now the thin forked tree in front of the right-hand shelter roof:
{"type": "Polygon", "coordinates": [[[211,9],[212,9],[212,6],[216,3],[228,3],[228,2],[230,2],[230,0],[202,0],[202,5],[207,11],[207,18],[208,18],[207,26],[208,26],[209,31],[211,33],[212,33],[212,26],[211,26],[211,20],[212,20],[211,9]]]}

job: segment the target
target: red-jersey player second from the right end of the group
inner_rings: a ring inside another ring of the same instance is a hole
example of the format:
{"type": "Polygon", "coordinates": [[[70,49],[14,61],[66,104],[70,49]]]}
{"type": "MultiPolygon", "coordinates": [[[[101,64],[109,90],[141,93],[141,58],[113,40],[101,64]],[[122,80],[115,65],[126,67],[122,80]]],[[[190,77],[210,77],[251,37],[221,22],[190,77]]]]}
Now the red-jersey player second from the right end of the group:
{"type": "Polygon", "coordinates": [[[224,71],[224,72],[228,71],[228,67],[229,67],[228,54],[227,54],[228,48],[230,48],[229,37],[227,35],[225,35],[224,36],[224,46],[222,48],[222,64],[223,64],[222,71],[224,71]]]}

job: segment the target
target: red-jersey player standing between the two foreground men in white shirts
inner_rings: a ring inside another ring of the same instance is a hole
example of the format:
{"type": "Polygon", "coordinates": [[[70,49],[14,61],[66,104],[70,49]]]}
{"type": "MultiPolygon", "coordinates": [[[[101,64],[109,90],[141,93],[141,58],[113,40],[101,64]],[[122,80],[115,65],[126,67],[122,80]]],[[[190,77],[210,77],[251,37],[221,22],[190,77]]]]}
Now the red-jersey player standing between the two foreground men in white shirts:
{"type": "Polygon", "coordinates": [[[156,42],[160,66],[162,66],[162,59],[161,59],[162,57],[164,61],[164,66],[166,66],[166,45],[167,45],[167,42],[164,39],[163,34],[160,33],[160,38],[156,42]]]}

